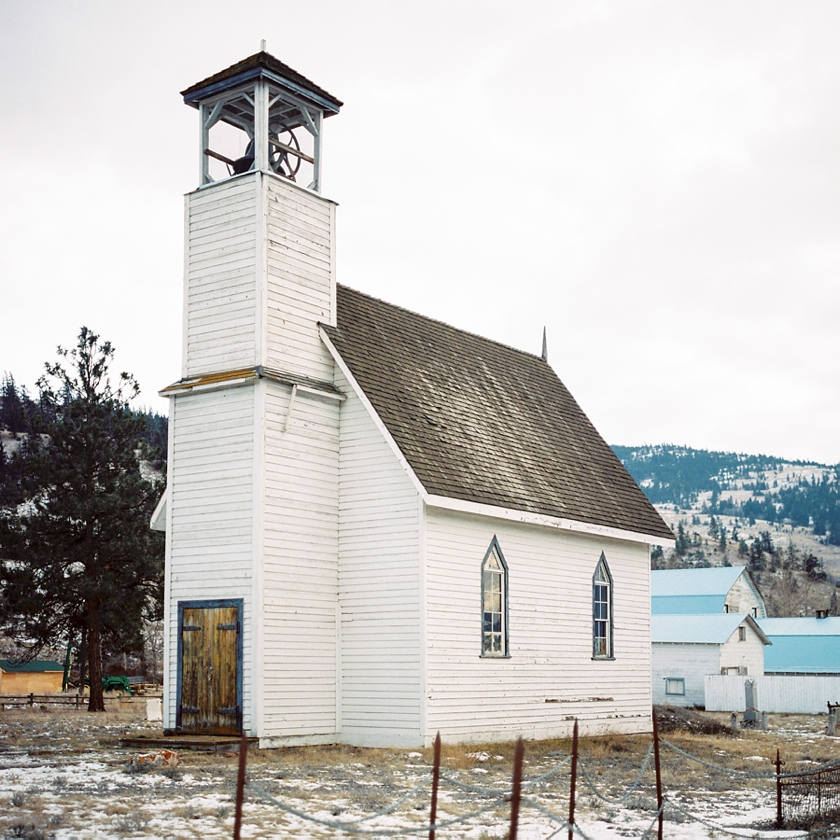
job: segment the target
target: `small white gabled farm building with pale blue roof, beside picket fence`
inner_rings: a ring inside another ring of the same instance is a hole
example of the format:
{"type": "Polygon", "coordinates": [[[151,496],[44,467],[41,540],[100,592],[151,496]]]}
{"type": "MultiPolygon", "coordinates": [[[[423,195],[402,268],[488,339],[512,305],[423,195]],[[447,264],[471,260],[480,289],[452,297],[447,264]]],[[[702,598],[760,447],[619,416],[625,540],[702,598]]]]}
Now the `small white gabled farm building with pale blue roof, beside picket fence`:
{"type": "Polygon", "coordinates": [[[655,615],[651,620],[653,702],[705,706],[708,674],[761,676],[770,640],[745,613],[655,615]]]}

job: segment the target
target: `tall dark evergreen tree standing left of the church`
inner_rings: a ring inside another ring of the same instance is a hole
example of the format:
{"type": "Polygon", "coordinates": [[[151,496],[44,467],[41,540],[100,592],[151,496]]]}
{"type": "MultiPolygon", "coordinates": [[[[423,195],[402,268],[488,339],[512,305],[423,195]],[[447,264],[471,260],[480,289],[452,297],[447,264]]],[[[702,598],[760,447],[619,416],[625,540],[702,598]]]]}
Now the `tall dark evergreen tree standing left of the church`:
{"type": "Polygon", "coordinates": [[[38,381],[40,423],[9,458],[17,498],[0,508],[0,620],[35,658],[83,633],[90,711],[104,711],[102,646],[136,649],[163,586],[163,541],[149,530],[160,487],[139,469],[145,419],[112,385],[109,342],[82,328],[38,381]],[[22,502],[22,503],[21,503],[22,502]]]}

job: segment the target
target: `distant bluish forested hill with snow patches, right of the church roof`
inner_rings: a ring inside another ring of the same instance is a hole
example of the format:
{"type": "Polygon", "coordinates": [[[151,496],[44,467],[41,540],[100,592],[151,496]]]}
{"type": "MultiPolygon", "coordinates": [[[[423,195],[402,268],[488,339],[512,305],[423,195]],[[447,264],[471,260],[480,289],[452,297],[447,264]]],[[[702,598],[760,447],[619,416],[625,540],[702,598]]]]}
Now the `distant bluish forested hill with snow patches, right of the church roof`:
{"type": "Polygon", "coordinates": [[[840,465],[685,446],[613,446],[654,504],[812,527],[840,545],[840,465]]]}

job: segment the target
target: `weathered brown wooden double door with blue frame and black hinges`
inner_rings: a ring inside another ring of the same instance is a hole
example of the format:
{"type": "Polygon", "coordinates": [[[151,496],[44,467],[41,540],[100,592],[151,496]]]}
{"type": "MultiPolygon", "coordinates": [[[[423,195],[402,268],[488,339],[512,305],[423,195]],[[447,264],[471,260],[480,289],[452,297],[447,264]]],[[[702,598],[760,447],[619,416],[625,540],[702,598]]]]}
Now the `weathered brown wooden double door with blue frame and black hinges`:
{"type": "Polygon", "coordinates": [[[190,602],[178,613],[178,729],[204,735],[241,732],[241,602],[190,602]]]}

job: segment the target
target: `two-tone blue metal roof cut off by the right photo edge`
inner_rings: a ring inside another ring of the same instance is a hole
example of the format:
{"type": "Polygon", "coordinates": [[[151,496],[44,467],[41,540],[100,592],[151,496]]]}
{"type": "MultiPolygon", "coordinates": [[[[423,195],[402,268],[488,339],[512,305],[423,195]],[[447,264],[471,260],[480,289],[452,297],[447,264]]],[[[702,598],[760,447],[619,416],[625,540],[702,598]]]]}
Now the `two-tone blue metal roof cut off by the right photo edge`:
{"type": "Polygon", "coordinates": [[[840,618],[762,618],[765,673],[840,674],[840,618]]]}

